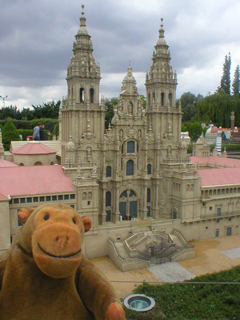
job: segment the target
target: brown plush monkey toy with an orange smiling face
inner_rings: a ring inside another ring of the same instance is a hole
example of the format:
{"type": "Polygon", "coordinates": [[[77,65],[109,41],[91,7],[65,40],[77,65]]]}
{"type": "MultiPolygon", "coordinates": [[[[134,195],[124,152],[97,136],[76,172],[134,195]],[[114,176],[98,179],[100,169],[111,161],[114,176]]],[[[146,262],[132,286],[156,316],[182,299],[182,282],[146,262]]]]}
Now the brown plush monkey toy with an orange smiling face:
{"type": "Polygon", "coordinates": [[[1,320],[124,320],[108,280],[81,252],[89,218],[69,206],[23,209],[25,222],[0,257],[1,320]]]}

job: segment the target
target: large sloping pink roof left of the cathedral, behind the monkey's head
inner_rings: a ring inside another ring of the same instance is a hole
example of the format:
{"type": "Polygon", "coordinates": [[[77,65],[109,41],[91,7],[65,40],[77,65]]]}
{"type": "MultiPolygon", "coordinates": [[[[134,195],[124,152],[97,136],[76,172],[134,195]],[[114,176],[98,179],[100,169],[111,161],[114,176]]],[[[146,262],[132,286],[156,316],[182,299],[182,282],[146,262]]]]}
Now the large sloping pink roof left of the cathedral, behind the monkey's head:
{"type": "Polygon", "coordinates": [[[0,193],[20,196],[74,192],[71,178],[62,166],[0,168],[0,193]]]}

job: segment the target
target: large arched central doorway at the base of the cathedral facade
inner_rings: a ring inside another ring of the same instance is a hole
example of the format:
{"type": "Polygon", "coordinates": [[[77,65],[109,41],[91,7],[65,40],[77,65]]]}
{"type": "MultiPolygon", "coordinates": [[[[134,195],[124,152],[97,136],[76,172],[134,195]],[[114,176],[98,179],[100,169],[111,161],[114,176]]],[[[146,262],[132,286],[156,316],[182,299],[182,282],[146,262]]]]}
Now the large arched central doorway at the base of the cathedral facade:
{"type": "Polygon", "coordinates": [[[133,190],[125,190],[119,198],[119,211],[123,220],[137,218],[138,198],[133,190]]]}

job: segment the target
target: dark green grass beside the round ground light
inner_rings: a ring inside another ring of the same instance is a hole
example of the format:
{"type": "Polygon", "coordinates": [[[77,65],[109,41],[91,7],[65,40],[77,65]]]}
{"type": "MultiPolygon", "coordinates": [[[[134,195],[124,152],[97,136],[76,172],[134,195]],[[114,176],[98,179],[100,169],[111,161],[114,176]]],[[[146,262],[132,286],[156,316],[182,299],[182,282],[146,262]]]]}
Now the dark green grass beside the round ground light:
{"type": "Polygon", "coordinates": [[[240,282],[240,266],[196,277],[183,284],[143,283],[134,290],[134,293],[143,293],[154,298],[156,307],[142,314],[125,309],[127,319],[239,320],[240,285],[225,285],[218,282],[240,282]],[[201,282],[216,282],[216,284],[201,282]]]}

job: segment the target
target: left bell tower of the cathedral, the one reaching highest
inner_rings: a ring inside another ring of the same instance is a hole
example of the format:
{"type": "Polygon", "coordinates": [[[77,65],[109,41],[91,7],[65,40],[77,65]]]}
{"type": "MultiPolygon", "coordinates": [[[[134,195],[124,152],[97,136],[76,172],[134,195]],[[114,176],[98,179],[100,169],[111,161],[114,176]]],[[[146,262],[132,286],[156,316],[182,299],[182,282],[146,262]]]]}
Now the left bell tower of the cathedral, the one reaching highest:
{"type": "MultiPolygon", "coordinates": [[[[84,136],[103,142],[104,106],[99,105],[100,66],[93,58],[91,36],[86,28],[84,6],[80,18],[80,28],[73,42],[73,56],[67,69],[68,94],[62,101],[62,164],[65,164],[66,144],[70,136],[76,145],[84,136]]],[[[76,155],[76,160],[80,155],[76,155]]]]}

